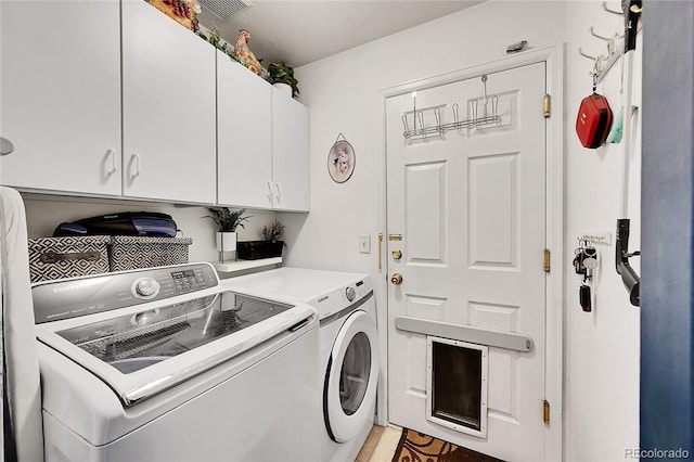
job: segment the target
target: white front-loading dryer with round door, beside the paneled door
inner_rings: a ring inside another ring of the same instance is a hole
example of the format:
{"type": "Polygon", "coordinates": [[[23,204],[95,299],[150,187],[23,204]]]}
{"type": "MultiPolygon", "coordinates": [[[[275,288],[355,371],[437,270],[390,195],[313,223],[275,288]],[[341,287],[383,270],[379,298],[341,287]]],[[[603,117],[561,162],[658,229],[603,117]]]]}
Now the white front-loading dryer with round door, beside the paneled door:
{"type": "Polygon", "coordinates": [[[352,462],[374,422],[378,382],[376,305],[370,277],[284,267],[233,278],[229,284],[300,300],[318,310],[321,460],[352,462]]]}

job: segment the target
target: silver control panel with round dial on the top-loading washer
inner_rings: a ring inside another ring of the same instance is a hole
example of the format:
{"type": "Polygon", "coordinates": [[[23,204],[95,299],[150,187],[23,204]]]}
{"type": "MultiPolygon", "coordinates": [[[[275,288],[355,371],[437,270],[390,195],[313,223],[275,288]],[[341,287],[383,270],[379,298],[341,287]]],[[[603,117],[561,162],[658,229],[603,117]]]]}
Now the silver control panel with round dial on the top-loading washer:
{"type": "Polygon", "coordinates": [[[162,300],[219,285],[209,264],[176,265],[40,282],[31,287],[36,323],[162,300]]]}

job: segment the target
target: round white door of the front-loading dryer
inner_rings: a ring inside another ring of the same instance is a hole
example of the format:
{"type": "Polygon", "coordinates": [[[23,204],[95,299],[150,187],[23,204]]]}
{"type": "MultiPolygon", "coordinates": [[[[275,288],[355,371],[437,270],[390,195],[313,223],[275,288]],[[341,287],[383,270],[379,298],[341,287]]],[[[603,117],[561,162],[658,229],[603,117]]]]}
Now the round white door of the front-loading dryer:
{"type": "Polygon", "coordinates": [[[325,426],[335,441],[352,439],[373,422],[377,381],[376,322],[355,311],[337,333],[323,389],[325,426]]]}

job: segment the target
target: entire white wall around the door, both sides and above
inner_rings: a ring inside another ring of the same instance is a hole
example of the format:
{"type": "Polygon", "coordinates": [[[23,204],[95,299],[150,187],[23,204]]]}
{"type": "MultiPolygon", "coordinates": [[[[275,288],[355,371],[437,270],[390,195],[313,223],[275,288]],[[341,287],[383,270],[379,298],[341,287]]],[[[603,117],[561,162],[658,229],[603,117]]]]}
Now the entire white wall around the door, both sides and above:
{"type": "MultiPolygon", "coordinates": [[[[618,2],[612,5],[619,9],[618,2]]],[[[639,442],[639,310],[631,307],[614,271],[614,246],[601,246],[596,306],[578,305],[580,280],[570,261],[576,236],[615,233],[619,215],[621,145],[584,150],[575,136],[580,100],[591,91],[592,65],[577,48],[600,54],[621,18],[599,1],[489,1],[296,70],[301,101],[311,111],[311,213],[283,214],[290,227],[287,264],[372,273],[376,278],[378,206],[377,93],[382,89],[501,59],[512,42],[531,47],[567,43],[565,101],[565,392],[564,459],[621,460],[639,442]],[[339,133],[357,163],[346,183],[332,181],[326,159],[339,133]],[[372,253],[358,252],[359,234],[372,236],[372,253]]],[[[639,66],[637,66],[640,68],[639,66]]],[[[619,65],[599,87],[619,107],[619,65]]],[[[640,89],[640,79],[639,89],[640,89]]],[[[637,103],[638,104],[638,103],[637,103]]],[[[560,116],[555,114],[555,116],[560,116]]],[[[639,162],[631,162],[631,247],[638,248],[639,162]]],[[[381,317],[383,319],[383,316],[381,317]]]]}

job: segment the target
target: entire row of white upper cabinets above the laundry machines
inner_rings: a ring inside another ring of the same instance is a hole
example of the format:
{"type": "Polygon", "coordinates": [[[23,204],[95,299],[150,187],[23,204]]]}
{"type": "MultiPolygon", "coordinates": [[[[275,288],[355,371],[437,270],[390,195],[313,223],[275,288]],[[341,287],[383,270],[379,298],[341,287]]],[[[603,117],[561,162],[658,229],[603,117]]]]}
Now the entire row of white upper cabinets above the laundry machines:
{"type": "Polygon", "coordinates": [[[308,108],[144,0],[0,9],[0,183],[309,209],[308,108]]]}

